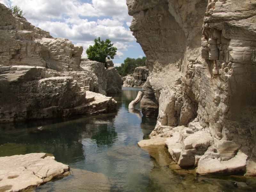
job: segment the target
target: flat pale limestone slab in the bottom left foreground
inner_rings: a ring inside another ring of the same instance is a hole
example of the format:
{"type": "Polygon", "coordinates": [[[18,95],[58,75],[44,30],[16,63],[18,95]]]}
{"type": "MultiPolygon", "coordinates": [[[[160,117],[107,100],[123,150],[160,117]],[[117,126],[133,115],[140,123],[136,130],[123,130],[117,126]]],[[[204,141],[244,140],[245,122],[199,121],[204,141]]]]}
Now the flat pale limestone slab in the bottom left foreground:
{"type": "Polygon", "coordinates": [[[69,166],[46,153],[0,157],[0,191],[15,192],[36,188],[69,174],[69,166]]]}

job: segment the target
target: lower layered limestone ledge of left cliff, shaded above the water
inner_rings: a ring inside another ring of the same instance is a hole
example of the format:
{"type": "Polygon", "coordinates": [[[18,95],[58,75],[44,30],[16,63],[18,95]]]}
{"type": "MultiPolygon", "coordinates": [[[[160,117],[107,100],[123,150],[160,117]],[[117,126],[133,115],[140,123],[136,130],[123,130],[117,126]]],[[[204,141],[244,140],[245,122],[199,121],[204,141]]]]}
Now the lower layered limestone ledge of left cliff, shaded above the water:
{"type": "Polygon", "coordinates": [[[113,98],[89,91],[90,87],[97,88],[97,77],[85,71],[60,73],[32,66],[0,67],[0,71],[0,121],[69,117],[116,109],[113,98]]]}

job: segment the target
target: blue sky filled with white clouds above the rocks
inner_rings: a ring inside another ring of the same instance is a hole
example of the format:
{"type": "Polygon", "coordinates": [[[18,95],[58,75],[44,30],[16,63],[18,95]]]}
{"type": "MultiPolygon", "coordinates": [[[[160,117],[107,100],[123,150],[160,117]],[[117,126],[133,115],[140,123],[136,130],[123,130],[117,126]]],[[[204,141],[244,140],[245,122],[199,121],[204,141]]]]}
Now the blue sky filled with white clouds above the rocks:
{"type": "Polygon", "coordinates": [[[64,37],[86,49],[94,39],[109,39],[116,48],[114,66],[127,57],[145,56],[132,36],[126,0],[0,0],[7,7],[17,5],[24,17],[52,36],[64,37]]]}

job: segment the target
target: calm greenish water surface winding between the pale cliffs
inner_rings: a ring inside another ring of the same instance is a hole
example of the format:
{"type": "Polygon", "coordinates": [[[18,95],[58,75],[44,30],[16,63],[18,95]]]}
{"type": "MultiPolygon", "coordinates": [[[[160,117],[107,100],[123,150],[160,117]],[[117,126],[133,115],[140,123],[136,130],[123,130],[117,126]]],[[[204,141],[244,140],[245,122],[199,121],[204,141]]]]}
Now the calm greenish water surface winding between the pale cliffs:
{"type": "Polygon", "coordinates": [[[200,177],[171,165],[164,148],[141,149],[156,118],[142,116],[140,104],[128,109],[140,88],[111,94],[115,113],[90,117],[0,125],[0,156],[52,153],[71,175],[35,191],[256,191],[256,179],[200,177]],[[37,131],[43,126],[43,131],[37,131]]]}

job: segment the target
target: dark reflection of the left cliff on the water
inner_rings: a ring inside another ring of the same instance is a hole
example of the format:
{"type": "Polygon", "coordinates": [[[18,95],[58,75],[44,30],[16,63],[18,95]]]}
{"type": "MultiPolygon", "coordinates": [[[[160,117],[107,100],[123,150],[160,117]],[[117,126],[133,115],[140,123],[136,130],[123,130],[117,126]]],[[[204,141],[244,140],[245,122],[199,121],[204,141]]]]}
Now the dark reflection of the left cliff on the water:
{"type": "Polygon", "coordinates": [[[116,113],[111,113],[98,115],[97,119],[92,116],[66,122],[38,120],[2,124],[0,156],[47,152],[66,164],[84,161],[83,139],[93,138],[99,145],[111,145],[117,140],[115,128],[111,126],[115,117],[116,113]],[[38,131],[38,126],[43,126],[44,130],[38,131]]]}

